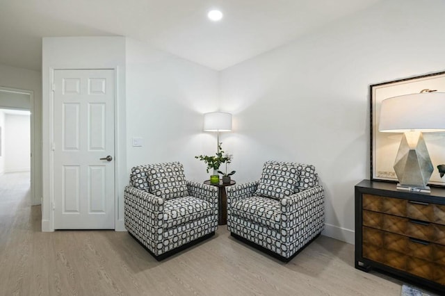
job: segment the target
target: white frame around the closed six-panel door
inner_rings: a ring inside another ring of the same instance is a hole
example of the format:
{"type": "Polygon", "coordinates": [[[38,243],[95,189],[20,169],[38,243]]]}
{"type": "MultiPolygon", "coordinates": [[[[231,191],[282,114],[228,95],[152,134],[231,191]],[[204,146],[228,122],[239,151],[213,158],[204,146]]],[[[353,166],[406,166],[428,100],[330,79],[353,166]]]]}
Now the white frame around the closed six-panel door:
{"type": "Polygon", "coordinates": [[[49,225],[45,225],[42,222],[42,231],[54,231],[54,150],[52,149],[52,145],[54,143],[54,91],[53,91],[53,85],[54,85],[54,71],[56,70],[112,70],[113,76],[114,76],[114,115],[113,120],[115,124],[114,129],[114,161],[115,161],[115,167],[114,167],[114,229],[115,231],[122,231],[122,227],[118,223],[119,221],[119,194],[118,190],[120,188],[119,183],[119,172],[121,170],[122,163],[124,161],[120,160],[120,148],[119,148],[119,140],[120,140],[120,134],[119,134],[119,114],[120,114],[120,105],[118,97],[118,67],[89,67],[89,68],[80,68],[80,67],[63,67],[63,68],[54,68],[49,67],[49,108],[48,108],[48,124],[49,124],[49,137],[48,137],[48,147],[49,147],[49,225]]]}

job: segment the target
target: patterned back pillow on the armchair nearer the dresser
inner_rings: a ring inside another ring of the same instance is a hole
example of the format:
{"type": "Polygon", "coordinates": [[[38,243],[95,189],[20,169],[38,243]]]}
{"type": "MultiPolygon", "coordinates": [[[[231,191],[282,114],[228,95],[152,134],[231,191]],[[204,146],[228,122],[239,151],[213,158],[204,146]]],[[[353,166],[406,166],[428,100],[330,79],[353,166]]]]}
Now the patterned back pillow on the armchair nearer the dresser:
{"type": "Polygon", "coordinates": [[[282,199],[295,192],[298,183],[294,165],[286,163],[264,163],[255,195],[282,199]]]}

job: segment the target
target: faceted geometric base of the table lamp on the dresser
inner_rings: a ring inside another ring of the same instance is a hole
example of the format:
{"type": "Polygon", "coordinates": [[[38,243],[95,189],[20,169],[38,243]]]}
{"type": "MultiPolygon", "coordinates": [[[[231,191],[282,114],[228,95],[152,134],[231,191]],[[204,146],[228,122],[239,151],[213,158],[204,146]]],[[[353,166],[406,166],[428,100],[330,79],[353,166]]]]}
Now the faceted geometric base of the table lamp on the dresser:
{"type": "Polygon", "coordinates": [[[398,147],[394,171],[398,181],[397,189],[430,192],[426,186],[434,168],[420,131],[407,131],[398,147]]]}

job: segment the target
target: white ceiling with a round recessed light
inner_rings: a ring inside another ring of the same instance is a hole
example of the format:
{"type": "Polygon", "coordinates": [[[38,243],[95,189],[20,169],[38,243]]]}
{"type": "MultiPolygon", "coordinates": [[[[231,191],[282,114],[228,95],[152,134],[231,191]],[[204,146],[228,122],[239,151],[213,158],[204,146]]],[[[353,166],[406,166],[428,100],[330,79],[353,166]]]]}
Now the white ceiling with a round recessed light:
{"type": "Polygon", "coordinates": [[[42,37],[124,35],[221,70],[379,1],[0,0],[0,63],[39,70],[42,37]]]}

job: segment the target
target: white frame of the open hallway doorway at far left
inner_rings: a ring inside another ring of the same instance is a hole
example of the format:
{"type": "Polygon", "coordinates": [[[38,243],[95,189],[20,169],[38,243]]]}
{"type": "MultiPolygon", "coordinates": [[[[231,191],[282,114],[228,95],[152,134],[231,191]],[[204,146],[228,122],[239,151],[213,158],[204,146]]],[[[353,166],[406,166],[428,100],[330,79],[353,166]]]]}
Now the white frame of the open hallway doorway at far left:
{"type": "MultiPolygon", "coordinates": [[[[0,86],[0,90],[6,91],[6,92],[16,92],[19,94],[28,94],[29,95],[29,99],[30,99],[30,108],[29,111],[31,112],[30,118],[29,118],[29,122],[30,122],[30,140],[31,140],[31,163],[30,163],[30,167],[31,167],[31,205],[35,206],[38,204],[41,204],[42,201],[40,200],[40,198],[35,196],[35,168],[37,167],[37,163],[38,163],[38,159],[42,158],[42,156],[40,154],[37,153],[36,151],[36,147],[35,147],[35,134],[34,134],[34,126],[35,126],[35,105],[34,105],[34,92],[32,90],[22,90],[19,88],[7,88],[5,86],[0,86]]],[[[1,108],[2,106],[0,106],[1,108]]],[[[12,109],[12,107],[8,106],[5,108],[8,109],[12,109]]],[[[14,107],[13,107],[14,108],[14,107]]],[[[23,109],[23,108],[15,108],[16,110],[28,110],[28,109],[23,109]]]]}

